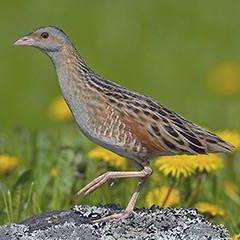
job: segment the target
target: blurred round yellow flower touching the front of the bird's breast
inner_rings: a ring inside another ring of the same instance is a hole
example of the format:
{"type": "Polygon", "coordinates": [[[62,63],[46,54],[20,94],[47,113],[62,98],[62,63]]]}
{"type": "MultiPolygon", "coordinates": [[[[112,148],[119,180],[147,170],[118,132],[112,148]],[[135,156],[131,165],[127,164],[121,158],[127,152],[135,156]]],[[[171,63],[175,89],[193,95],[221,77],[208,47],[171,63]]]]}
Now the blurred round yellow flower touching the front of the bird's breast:
{"type": "Polygon", "coordinates": [[[54,99],[49,106],[48,112],[50,118],[56,121],[67,121],[72,119],[72,113],[63,97],[54,99]]]}

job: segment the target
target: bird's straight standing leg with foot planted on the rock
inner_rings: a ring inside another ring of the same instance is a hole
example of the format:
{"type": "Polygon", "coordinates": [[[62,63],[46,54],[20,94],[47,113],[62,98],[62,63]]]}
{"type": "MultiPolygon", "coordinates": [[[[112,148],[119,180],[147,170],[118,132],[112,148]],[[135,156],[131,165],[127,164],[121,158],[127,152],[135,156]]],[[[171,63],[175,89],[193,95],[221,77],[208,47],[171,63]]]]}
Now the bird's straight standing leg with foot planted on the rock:
{"type": "Polygon", "coordinates": [[[139,182],[138,182],[138,185],[137,185],[137,188],[135,190],[135,192],[132,194],[129,202],[128,202],[128,205],[126,207],[126,209],[123,211],[123,212],[120,212],[120,213],[114,213],[110,216],[107,216],[107,217],[103,217],[103,218],[100,218],[100,219],[97,219],[97,220],[94,220],[93,223],[97,223],[97,222],[106,222],[106,221],[119,221],[119,220],[122,220],[122,219],[125,219],[125,218],[128,218],[133,210],[134,210],[134,206],[136,204],[136,201],[138,199],[138,196],[143,188],[143,185],[144,185],[144,182],[146,180],[146,177],[142,177],[139,179],[139,182]]]}

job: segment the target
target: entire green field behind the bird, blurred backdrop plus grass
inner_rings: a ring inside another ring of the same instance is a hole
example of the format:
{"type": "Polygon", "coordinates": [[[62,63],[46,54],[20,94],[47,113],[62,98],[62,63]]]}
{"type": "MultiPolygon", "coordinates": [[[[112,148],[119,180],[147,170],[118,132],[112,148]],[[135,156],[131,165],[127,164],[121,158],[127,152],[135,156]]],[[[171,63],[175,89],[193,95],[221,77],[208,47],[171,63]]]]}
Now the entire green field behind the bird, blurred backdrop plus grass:
{"type": "MultiPolygon", "coordinates": [[[[91,161],[93,144],[72,121],[51,120],[49,106],[61,93],[50,60],[39,50],[13,46],[35,28],[55,25],[106,79],[149,95],[210,130],[236,131],[230,138],[238,151],[225,155],[222,171],[207,175],[192,204],[181,198],[178,206],[193,207],[199,200],[220,204],[227,214],[216,222],[239,232],[239,12],[236,0],[2,1],[0,224],[80,203],[124,207],[135,188],[134,182],[126,189],[126,182],[119,181],[114,190],[74,198],[90,179],[119,168],[91,161]],[[11,160],[10,166],[4,154],[18,161],[11,160]],[[224,193],[225,181],[234,183],[233,199],[224,193]]],[[[171,183],[155,172],[137,206],[146,206],[145,195],[153,187],[171,183]]],[[[179,189],[191,193],[197,177],[186,178],[179,189]]]]}

